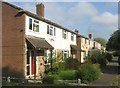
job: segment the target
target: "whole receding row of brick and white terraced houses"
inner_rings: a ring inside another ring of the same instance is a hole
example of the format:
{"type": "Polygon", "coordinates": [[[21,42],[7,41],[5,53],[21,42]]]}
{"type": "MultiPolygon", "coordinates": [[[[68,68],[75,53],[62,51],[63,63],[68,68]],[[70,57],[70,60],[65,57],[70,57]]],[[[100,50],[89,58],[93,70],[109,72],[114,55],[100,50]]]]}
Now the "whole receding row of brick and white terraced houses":
{"type": "Polygon", "coordinates": [[[31,78],[39,76],[39,66],[49,66],[50,58],[64,62],[76,58],[80,63],[100,43],[67,29],[44,17],[44,5],[36,5],[36,14],[8,2],[2,5],[2,76],[31,78]],[[42,63],[42,64],[41,64],[42,63]]]}

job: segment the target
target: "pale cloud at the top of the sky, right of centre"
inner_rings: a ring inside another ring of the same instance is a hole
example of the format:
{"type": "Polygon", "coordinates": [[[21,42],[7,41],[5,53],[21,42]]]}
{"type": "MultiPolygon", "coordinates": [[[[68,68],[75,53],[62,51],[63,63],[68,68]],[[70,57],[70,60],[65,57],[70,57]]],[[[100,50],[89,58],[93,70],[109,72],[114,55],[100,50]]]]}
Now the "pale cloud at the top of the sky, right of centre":
{"type": "Polygon", "coordinates": [[[83,16],[93,16],[97,14],[96,8],[88,2],[81,2],[78,3],[76,6],[72,7],[68,14],[70,16],[78,18],[78,17],[83,17],[83,16]]]}

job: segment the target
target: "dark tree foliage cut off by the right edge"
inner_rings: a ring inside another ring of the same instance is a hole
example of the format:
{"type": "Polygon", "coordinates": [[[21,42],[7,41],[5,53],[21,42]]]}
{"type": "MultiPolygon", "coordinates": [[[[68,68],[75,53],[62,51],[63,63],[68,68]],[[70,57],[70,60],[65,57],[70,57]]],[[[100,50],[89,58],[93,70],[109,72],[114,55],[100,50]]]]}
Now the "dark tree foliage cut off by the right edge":
{"type": "Polygon", "coordinates": [[[115,31],[108,40],[107,50],[120,50],[120,29],[115,31]]]}

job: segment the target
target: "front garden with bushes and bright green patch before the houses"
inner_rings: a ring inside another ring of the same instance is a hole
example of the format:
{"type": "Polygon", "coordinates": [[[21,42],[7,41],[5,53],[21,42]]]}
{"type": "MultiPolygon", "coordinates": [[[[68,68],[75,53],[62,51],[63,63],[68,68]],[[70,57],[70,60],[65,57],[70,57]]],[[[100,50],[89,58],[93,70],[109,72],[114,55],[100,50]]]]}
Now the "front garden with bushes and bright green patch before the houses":
{"type": "Polygon", "coordinates": [[[42,84],[39,85],[89,84],[100,78],[101,69],[111,60],[111,54],[99,50],[92,51],[84,64],[80,64],[76,58],[66,58],[64,62],[53,63],[52,68],[45,72],[42,84]]]}

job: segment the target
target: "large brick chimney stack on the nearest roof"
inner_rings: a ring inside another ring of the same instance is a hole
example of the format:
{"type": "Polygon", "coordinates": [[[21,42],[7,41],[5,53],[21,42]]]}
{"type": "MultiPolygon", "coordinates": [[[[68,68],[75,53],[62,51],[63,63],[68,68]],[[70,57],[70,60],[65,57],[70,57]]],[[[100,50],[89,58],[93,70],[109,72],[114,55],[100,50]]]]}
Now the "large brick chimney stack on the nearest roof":
{"type": "Polygon", "coordinates": [[[40,3],[36,5],[36,14],[39,17],[44,17],[44,4],[40,3]]]}

